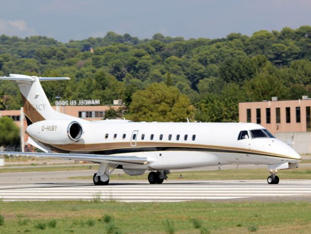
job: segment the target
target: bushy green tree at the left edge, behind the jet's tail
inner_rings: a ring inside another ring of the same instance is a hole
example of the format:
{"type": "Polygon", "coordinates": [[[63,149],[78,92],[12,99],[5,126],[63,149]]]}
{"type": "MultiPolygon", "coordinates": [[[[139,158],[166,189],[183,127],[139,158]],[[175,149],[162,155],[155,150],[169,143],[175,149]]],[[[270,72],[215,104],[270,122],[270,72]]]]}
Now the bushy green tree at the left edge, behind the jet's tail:
{"type": "Polygon", "coordinates": [[[0,117],[0,146],[18,145],[19,127],[10,117],[0,117]]]}

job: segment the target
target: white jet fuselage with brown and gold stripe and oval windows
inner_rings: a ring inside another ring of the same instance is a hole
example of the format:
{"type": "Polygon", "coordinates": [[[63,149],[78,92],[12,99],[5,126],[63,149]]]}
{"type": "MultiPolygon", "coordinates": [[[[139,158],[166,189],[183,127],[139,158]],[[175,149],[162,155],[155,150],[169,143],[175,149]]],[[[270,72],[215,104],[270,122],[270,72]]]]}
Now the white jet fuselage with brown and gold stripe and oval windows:
{"type": "MultiPolygon", "coordinates": [[[[55,125],[53,128],[61,129],[58,122],[49,126],[55,125]]],[[[40,129],[42,126],[39,123],[30,126],[37,124],[40,129]]],[[[83,122],[82,127],[83,134],[78,142],[47,144],[49,139],[44,137],[45,146],[63,153],[148,158],[149,163],[146,165],[123,164],[124,169],[132,170],[297,163],[301,159],[290,146],[276,138],[252,137],[251,130],[264,129],[253,123],[158,123],[120,120],[83,122]],[[241,131],[248,131],[250,137],[238,140],[241,131]]],[[[36,131],[38,136],[38,130],[36,131]]],[[[34,137],[28,129],[27,133],[34,137]]],[[[46,136],[59,138],[58,134],[60,133],[57,131],[50,131],[46,136]]],[[[38,137],[34,138],[40,141],[38,137]]]]}

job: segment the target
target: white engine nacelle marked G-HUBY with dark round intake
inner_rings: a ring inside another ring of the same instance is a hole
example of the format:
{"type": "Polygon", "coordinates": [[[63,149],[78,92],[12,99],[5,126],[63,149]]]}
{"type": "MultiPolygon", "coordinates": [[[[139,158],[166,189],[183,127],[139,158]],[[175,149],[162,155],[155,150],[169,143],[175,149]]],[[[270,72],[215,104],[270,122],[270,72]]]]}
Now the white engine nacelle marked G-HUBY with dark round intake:
{"type": "Polygon", "coordinates": [[[73,144],[81,139],[82,125],[73,120],[43,120],[29,125],[26,133],[47,144],[73,144]]]}

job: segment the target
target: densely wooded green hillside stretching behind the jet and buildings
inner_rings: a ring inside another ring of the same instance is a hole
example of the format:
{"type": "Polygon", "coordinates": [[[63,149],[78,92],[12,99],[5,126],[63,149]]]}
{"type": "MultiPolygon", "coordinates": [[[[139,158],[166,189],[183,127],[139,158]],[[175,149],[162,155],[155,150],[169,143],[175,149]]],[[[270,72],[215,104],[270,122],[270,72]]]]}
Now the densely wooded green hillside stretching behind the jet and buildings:
{"type": "MultiPolygon", "coordinates": [[[[103,38],[62,43],[2,35],[0,76],[10,73],[69,77],[42,82],[51,103],[56,97],[100,99],[102,104],[123,99],[128,117],[136,121],[158,120],[158,115],[140,114],[155,106],[162,116],[173,110],[161,121],[238,121],[238,102],[311,96],[311,26],[261,30],[251,37],[231,33],[221,39],[159,33],[138,39],[108,32],[103,38]]],[[[20,106],[17,85],[2,80],[0,109],[20,106]]]]}

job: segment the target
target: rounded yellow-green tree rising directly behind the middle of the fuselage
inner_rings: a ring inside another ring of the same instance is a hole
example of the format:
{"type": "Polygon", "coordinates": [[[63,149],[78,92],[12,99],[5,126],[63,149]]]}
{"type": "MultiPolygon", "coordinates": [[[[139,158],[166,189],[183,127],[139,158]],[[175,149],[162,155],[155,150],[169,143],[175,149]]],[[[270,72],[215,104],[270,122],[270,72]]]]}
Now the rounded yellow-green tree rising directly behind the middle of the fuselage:
{"type": "Polygon", "coordinates": [[[192,118],[190,100],[173,86],[153,83],[133,95],[128,119],[133,121],[185,122],[192,118]]]}

